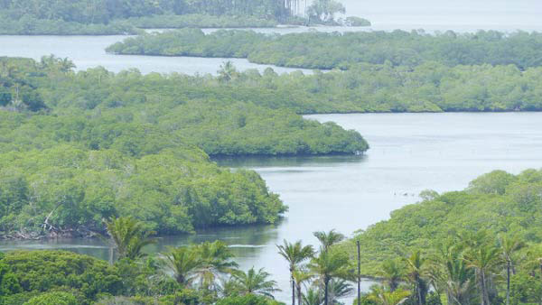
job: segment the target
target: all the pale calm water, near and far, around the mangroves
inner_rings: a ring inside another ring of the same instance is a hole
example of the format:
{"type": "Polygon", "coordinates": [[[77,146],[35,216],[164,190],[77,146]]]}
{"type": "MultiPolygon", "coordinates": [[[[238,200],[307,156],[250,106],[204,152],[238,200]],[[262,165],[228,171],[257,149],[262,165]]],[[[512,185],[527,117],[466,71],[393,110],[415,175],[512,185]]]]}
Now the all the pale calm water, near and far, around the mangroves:
{"type": "MultiPolygon", "coordinates": [[[[428,32],[478,29],[542,31],[542,2],[538,0],[344,0],[350,15],[367,17],[370,28],[319,27],[318,31],[425,29],[428,32]],[[437,7],[438,8],[435,8],[437,7]]],[[[257,29],[258,32],[303,32],[308,28],[257,29]]],[[[206,30],[212,32],[213,30],[206,30]]],[[[112,71],[136,68],[143,73],[216,73],[226,59],[116,56],[107,45],[126,36],[0,36],[0,56],[39,59],[68,57],[78,69],[98,65],[112,71]]],[[[238,69],[266,65],[232,60],[238,69]]],[[[276,68],[277,72],[294,69],[276,68]]],[[[304,71],[309,73],[310,71],[304,71]]],[[[381,114],[307,116],[334,121],[363,134],[371,145],[361,157],[304,157],[220,160],[233,168],[258,171],[270,189],[280,194],[290,211],[277,226],[222,228],[194,236],[164,237],[146,250],[222,239],[247,269],[265,267],[274,274],[289,300],[287,266],[276,254],[285,238],[315,244],[312,232],[336,228],[351,235],[388,217],[393,209],[418,200],[423,189],[463,189],[478,175],[502,169],[518,173],[542,167],[542,113],[507,114],[381,114]]],[[[16,248],[69,249],[107,259],[100,240],[0,242],[0,251],[16,248]]],[[[370,282],[365,282],[364,288],[370,282]]]]}

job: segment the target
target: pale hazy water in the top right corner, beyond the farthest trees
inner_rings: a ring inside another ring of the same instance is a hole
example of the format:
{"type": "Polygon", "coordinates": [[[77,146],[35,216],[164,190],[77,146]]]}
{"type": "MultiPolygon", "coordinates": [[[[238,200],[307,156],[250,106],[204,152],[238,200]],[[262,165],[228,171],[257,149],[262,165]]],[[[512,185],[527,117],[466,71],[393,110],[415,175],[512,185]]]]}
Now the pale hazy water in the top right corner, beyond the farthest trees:
{"type": "Polygon", "coordinates": [[[341,0],[375,27],[542,31],[542,0],[341,0]]]}

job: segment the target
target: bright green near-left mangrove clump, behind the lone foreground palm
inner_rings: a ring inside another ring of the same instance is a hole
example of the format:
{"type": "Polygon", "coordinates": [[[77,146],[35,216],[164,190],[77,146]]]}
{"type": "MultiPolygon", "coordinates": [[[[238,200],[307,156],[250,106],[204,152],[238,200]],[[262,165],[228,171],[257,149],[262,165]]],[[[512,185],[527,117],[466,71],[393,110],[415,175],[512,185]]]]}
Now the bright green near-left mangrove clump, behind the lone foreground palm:
{"type": "Polygon", "coordinates": [[[38,235],[104,232],[102,219],[118,215],[159,234],[190,233],[274,223],[285,211],[255,172],[191,162],[173,151],[136,159],[59,145],[0,154],[0,164],[0,180],[7,182],[0,188],[0,229],[7,235],[21,227],[19,233],[38,235]]]}

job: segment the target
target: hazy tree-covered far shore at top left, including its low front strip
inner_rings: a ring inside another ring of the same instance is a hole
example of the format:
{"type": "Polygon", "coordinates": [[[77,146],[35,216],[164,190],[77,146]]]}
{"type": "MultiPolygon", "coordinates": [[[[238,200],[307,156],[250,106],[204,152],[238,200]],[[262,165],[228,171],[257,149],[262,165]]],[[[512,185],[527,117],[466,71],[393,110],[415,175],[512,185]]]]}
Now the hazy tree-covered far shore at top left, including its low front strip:
{"type": "MultiPolygon", "coordinates": [[[[305,4],[306,5],[306,4],[305,4]]],[[[0,34],[126,34],[137,28],[265,27],[277,23],[332,23],[344,7],[319,0],[299,17],[300,0],[31,0],[0,2],[0,34]]],[[[350,18],[345,25],[369,25],[350,18]]]]}

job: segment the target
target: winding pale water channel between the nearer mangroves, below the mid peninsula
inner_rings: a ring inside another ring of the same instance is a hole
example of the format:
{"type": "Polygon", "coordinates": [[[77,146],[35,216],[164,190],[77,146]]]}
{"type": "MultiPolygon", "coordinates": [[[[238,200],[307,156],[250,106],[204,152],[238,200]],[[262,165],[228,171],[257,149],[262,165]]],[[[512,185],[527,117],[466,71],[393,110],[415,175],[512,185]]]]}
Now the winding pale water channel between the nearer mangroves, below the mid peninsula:
{"type": "MultiPolygon", "coordinates": [[[[279,299],[288,300],[288,270],[275,247],[283,239],[315,244],[313,231],[332,228],[350,236],[387,218],[390,211],[416,202],[423,189],[464,189],[488,171],[519,173],[542,167],[542,113],[307,117],[355,129],[371,149],[361,157],[220,160],[225,166],[258,171],[290,206],[285,220],[278,226],[168,237],[148,250],[222,239],[238,254],[242,268],[254,265],[273,273],[284,290],[279,299]]],[[[107,247],[98,240],[0,244],[0,250],[21,247],[65,248],[107,259],[107,247]]]]}

